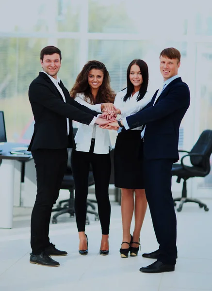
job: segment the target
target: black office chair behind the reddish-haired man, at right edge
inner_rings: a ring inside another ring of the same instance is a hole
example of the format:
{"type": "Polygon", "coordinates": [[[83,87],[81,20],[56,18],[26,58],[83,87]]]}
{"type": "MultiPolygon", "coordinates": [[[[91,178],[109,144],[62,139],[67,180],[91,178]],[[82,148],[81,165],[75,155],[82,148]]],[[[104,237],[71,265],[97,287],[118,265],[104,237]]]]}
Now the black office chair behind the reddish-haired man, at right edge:
{"type": "Polygon", "coordinates": [[[179,150],[179,152],[186,152],[187,154],[181,158],[180,164],[175,163],[172,167],[172,176],[178,177],[177,182],[179,183],[180,180],[183,179],[182,196],[179,198],[174,198],[175,206],[176,201],[180,201],[177,211],[179,212],[182,210],[183,203],[185,202],[195,202],[200,208],[204,207],[204,210],[208,211],[209,208],[207,205],[202,203],[200,200],[187,198],[186,180],[194,177],[205,177],[210,173],[212,130],[204,130],[190,152],[186,150],[179,150]],[[185,157],[190,157],[192,166],[187,166],[183,163],[185,157]]]}

